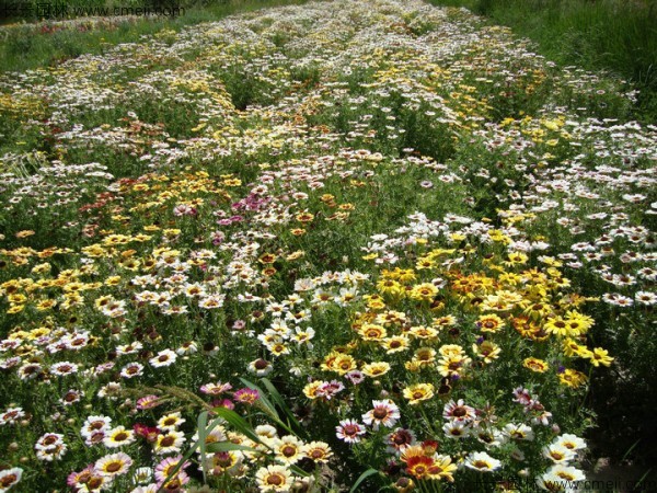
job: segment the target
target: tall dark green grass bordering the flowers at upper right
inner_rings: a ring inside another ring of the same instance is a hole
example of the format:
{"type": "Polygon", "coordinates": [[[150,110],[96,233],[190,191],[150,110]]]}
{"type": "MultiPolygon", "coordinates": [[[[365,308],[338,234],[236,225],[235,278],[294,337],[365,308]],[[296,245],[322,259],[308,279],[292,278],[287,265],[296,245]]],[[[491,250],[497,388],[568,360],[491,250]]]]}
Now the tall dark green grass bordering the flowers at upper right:
{"type": "Polygon", "coordinates": [[[639,91],[636,117],[657,118],[656,0],[429,0],[508,25],[563,65],[608,70],[639,91]]]}

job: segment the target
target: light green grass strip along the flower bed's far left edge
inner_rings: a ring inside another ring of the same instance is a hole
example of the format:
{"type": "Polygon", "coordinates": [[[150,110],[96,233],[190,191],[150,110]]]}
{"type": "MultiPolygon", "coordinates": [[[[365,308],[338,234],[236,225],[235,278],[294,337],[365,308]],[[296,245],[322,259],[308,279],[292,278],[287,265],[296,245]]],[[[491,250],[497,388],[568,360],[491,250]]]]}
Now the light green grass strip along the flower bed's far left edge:
{"type": "MultiPolygon", "coordinates": [[[[1,71],[24,71],[57,65],[82,54],[102,54],[111,45],[138,42],[143,35],[162,30],[180,31],[186,25],[211,22],[239,12],[267,7],[302,4],[308,0],[226,0],[207,5],[192,5],[177,18],[106,18],[91,27],[84,21],[65,28],[54,22],[14,23],[0,26],[1,71]],[[58,30],[57,30],[58,28],[58,30]]],[[[122,4],[123,5],[123,4],[122,4]]],[[[129,5],[129,3],[128,3],[129,5]]]]}

